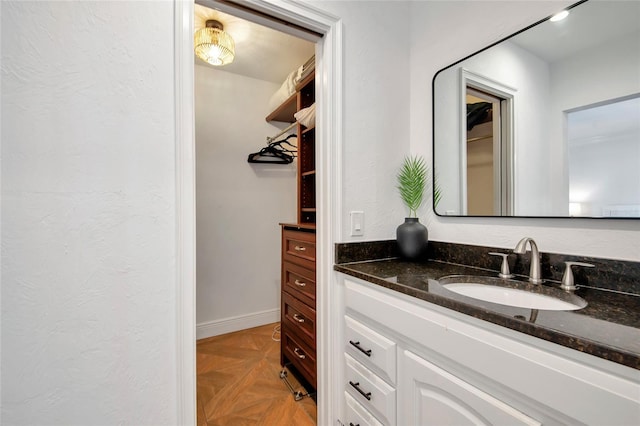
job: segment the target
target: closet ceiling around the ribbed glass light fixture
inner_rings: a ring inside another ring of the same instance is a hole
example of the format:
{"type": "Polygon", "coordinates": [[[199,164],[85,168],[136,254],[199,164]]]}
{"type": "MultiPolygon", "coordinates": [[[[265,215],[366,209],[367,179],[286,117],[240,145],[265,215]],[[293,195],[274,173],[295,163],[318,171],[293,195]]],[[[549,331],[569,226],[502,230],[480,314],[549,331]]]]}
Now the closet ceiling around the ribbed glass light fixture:
{"type": "Polygon", "coordinates": [[[224,25],[236,45],[231,64],[214,67],[193,55],[195,64],[259,80],[282,83],[314,54],[315,44],[208,7],[195,5],[194,33],[207,19],[224,25]]]}

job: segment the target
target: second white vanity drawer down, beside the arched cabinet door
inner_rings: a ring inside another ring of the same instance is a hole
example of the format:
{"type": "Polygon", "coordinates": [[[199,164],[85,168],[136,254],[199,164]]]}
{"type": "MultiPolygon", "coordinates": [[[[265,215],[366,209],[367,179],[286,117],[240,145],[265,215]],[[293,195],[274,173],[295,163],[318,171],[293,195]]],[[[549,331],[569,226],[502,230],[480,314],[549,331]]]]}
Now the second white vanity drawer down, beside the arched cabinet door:
{"type": "Polygon", "coordinates": [[[382,424],[395,424],[396,390],[348,354],[344,356],[347,392],[373,412],[382,424]]]}

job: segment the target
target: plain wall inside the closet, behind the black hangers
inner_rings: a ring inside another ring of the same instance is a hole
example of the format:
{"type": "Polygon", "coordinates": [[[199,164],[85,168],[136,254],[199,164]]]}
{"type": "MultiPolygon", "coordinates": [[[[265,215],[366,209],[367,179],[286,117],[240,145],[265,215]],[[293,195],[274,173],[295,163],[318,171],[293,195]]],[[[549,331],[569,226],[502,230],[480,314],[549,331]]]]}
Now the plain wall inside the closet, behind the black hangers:
{"type": "Polygon", "coordinates": [[[278,223],[297,220],[297,162],[247,162],[280,132],[265,121],[279,86],[195,67],[198,338],[279,320],[278,223]]]}

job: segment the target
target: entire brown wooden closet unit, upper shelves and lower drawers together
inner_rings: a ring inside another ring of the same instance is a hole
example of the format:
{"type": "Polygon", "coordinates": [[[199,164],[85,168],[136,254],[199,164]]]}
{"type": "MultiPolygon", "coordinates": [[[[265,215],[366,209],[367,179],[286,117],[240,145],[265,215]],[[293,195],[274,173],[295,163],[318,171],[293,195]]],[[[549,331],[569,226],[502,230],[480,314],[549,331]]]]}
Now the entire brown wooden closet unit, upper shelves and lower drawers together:
{"type": "MultiPolygon", "coordinates": [[[[315,103],[315,75],[267,116],[293,123],[294,113],[315,103]]],[[[296,126],[298,145],[297,223],[282,226],[280,363],[316,389],[316,131],[296,126]]]]}

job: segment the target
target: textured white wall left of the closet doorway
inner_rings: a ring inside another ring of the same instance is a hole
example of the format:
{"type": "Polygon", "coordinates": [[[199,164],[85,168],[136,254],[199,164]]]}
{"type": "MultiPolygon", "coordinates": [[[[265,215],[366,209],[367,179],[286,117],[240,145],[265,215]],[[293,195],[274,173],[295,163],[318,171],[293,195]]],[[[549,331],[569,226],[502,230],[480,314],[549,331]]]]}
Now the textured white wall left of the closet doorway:
{"type": "Polygon", "coordinates": [[[173,5],[0,7],[1,423],[173,425],[173,5]]]}

